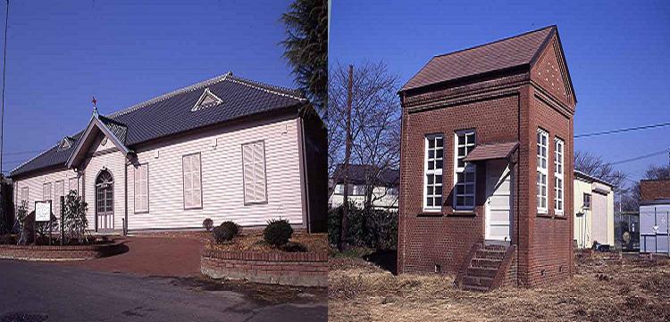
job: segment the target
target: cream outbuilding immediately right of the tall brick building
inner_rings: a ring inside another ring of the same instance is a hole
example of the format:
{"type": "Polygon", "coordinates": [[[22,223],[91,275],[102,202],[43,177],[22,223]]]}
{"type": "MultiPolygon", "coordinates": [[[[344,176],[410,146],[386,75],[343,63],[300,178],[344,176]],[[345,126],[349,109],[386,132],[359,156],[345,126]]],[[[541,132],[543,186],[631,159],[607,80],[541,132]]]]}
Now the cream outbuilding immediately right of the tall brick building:
{"type": "Polygon", "coordinates": [[[593,242],[615,245],[614,186],[574,170],[574,241],[578,248],[593,242]]]}

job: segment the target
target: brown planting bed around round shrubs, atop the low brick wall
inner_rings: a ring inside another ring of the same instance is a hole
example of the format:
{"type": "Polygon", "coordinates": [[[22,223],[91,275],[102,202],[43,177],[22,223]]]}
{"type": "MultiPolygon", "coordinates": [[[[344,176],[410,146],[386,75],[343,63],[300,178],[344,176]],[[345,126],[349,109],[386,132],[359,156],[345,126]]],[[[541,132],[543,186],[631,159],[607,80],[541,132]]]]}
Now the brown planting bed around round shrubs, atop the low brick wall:
{"type": "Polygon", "coordinates": [[[215,244],[214,239],[210,238],[205,248],[214,248],[225,252],[289,252],[291,248],[295,250],[299,244],[306,252],[328,252],[328,235],[326,234],[303,234],[296,233],[291,237],[286,248],[276,248],[267,244],[263,240],[263,235],[258,233],[239,235],[230,243],[215,244]]]}

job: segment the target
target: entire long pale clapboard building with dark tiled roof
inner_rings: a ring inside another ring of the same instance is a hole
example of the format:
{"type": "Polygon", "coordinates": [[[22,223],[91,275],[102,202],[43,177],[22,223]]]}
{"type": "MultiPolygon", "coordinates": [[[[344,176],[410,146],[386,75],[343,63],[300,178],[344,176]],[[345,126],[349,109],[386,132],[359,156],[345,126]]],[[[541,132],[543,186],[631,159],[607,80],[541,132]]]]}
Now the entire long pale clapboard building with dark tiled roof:
{"type": "MultiPolygon", "coordinates": [[[[14,198],[75,191],[100,233],[288,219],[326,228],[322,121],[304,96],[231,73],[110,115],[13,169],[14,198]]],[[[59,212],[54,202],[54,212],[59,212]]]]}

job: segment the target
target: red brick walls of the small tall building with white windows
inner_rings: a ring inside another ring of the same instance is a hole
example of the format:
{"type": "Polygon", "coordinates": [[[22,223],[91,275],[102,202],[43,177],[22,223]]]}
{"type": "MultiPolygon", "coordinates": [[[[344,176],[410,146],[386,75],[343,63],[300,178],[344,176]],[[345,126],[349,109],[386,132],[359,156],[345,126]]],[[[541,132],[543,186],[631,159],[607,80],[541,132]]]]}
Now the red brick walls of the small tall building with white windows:
{"type": "MultiPolygon", "coordinates": [[[[574,100],[561,73],[565,73],[557,45],[540,56],[542,67],[554,66],[555,79],[535,79],[518,72],[495,79],[474,80],[456,87],[431,87],[402,98],[400,207],[398,223],[398,273],[431,272],[440,266],[455,274],[473,243],[484,235],[485,167],[477,167],[476,207],[471,213],[451,208],[454,182],[454,135],[473,128],[476,143],[519,141],[513,184],[515,218],[512,244],[517,244],[514,273],[518,285],[530,287],[556,282],[572,274],[574,100]],[[559,62],[560,61],[560,62],[559,62]],[[562,86],[557,86],[560,81],[562,86]],[[554,84],[554,87],[542,84],[554,84]],[[562,95],[559,96],[559,95],[562,95]],[[535,197],[536,133],[549,132],[547,214],[538,214],[535,197]],[[438,213],[423,211],[424,136],[445,137],[443,195],[438,213]],[[564,215],[554,213],[554,138],[565,142],[564,215]]],[[[514,284],[506,281],[506,284],[514,284]]]]}

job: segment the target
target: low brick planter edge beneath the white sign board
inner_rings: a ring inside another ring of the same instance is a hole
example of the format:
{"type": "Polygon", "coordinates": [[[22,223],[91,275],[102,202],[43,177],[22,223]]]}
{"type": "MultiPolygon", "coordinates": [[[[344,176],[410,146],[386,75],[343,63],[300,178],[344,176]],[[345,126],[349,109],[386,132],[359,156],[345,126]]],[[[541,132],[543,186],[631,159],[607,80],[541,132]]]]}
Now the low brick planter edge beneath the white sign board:
{"type": "Polygon", "coordinates": [[[71,246],[0,245],[0,259],[4,260],[90,260],[123,252],[122,242],[71,246]]]}

